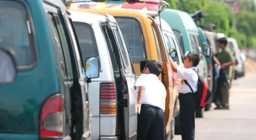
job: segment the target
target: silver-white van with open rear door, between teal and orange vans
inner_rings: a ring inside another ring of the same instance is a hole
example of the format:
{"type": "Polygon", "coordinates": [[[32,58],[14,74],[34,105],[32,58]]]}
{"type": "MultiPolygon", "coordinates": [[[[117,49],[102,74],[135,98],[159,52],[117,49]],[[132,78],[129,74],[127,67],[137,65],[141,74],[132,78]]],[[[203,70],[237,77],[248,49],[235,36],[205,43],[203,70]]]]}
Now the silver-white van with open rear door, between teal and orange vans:
{"type": "Polygon", "coordinates": [[[100,63],[99,77],[89,84],[91,139],[136,140],[136,74],[116,20],[108,14],[102,16],[72,10],[70,13],[82,57],[86,59],[88,78],[94,72],[94,60],[90,58],[97,56],[100,63]]]}

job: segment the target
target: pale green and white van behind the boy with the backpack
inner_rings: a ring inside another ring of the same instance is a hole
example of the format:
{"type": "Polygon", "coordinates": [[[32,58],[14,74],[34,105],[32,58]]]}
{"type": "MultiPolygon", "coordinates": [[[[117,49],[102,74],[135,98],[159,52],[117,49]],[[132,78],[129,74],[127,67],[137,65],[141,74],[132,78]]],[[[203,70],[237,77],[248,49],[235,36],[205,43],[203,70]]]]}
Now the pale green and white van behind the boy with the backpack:
{"type": "MultiPolygon", "coordinates": [[[[207,82],[207,62],[203,52],[200,32],[194,20],[188,13],[174,9],[165,9],[160,16],[170,25],[176,34],[182,53],[185,54],[189,51],[200,56],[201,61],[198,64],[198,70],[207,82]]],[[[197,109],[196,117],[203,117],[203,112],[204,109],[197,109]]]]}

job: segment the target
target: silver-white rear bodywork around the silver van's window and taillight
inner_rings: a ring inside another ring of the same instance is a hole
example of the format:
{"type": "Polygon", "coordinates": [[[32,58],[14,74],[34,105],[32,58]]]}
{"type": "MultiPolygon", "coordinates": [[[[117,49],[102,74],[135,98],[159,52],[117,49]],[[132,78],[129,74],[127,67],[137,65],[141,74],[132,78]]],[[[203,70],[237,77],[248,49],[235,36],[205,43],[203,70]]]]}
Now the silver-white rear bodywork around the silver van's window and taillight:
{"type": "MultiPolygon", "coordinates": [[[[100,83],[115,82],[114,71],[108,46],[105,37],[100,27],[101,22],[106,22],[106,16],[92,14],[87,12],[78,12],[70,10],[71,17],[74,22],[84,22],[91,24],[96,37],[98,46],[99,58],[102,72],[98,78],[92,79],[89,83],[90,88],[90,103],[92,112],[92,140],[98,140],[100,136],[116,136],[119,134],[117,115],[100,115],[100,83]],[[86,17],[86,18],[81,18],[86,17]]],[[[135,107],[134,107],[135,108],[135,107]]]]}

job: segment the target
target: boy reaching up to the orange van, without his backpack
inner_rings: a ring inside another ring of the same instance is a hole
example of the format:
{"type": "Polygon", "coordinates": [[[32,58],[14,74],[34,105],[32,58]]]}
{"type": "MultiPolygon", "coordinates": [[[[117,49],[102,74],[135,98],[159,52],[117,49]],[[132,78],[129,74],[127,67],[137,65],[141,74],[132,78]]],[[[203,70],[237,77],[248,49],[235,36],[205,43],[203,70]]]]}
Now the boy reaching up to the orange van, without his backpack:
{"type": "Polygon", "coordinates": [[[195,137],[195,112],[196,112],[196,95],[198,71],[196,66],[200,62],[200,58],[197,54],[188,54],[184,60],[184,68],[178,68],[172,58],[170,63],[172,70],[177,72],[178,82],[178,99],[180,101],[180,127],[182,140],[194,140],[195,137]],[[190,87],[185,83],[191,86],[190,87]]]}

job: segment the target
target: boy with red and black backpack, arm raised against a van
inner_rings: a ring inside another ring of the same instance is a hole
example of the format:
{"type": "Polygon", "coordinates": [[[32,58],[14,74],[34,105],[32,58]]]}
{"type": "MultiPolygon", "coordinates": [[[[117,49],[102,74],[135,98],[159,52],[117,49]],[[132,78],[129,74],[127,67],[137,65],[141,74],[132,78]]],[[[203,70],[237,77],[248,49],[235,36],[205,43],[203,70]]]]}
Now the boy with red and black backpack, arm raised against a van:
{"type": "Polygon", "coordinates": [[[208,103],[212,93],[202,77],[198,75],[196,66],[199,64],[200,58],[197,54],[187,54],[184,59],[184,68],[178,68],[171,53],[170,63],[172,70],[177,72],[178,79],[182,140],[194,140],[195,111],[208,103]]]}

